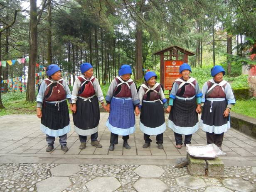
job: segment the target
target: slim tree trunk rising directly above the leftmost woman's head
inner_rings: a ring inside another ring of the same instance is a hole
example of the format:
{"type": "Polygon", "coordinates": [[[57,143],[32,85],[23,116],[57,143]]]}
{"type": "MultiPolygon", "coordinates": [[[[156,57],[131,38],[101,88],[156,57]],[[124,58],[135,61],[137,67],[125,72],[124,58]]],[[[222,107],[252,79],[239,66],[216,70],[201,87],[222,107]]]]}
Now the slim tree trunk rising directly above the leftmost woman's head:
{"type": "Polygon", "coordinates": [[[48,0],[47,63],[52,64],[52,0],[48,0]]]}

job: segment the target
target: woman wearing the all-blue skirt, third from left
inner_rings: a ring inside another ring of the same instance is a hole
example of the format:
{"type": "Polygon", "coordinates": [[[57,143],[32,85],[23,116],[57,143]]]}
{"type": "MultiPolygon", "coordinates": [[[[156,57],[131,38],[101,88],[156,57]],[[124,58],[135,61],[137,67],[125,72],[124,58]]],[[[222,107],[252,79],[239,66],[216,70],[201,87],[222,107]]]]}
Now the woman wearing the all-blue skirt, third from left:
{"type": "Polygon", "coordinates": [[[129,65],[121,66],[118,77],[111,82],[106,95],[107,111],[110,112],[106,126],[111,131],[109,151],[118,144],[118,135],[123,136],[123,146],[128,145],[129,134],[135,131],[135,114],[138,116],[139,97],[136,85],[130,78],[132,69],[129,65]]]}

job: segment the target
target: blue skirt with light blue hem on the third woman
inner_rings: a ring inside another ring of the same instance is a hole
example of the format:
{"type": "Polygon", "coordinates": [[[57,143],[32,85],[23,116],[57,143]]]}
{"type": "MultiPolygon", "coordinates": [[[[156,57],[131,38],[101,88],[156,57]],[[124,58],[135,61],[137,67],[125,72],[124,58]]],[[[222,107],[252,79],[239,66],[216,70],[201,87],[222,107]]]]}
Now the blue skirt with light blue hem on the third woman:
{"type": "Polygon", "coordinates": [[[135,115],[131,98],[112,97],[106,126],[112,133],[118,135],[129,135],[135,131],[135,115]]]}

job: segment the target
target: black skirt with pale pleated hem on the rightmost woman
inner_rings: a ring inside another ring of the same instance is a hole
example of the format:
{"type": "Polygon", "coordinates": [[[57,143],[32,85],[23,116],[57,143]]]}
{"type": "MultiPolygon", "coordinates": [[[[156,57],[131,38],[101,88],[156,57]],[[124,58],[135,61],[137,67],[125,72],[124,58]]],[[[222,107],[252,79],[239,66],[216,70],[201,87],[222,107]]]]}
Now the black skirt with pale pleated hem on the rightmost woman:
{"type": "Polygon", "coordinates": [[[203,131],[209,133],[222,134],[230,128],[229,117],[223,117],[227,101],[213,101],[212,112],[211,101],[205,100],[200,120],[200,126],[203,131]]]}

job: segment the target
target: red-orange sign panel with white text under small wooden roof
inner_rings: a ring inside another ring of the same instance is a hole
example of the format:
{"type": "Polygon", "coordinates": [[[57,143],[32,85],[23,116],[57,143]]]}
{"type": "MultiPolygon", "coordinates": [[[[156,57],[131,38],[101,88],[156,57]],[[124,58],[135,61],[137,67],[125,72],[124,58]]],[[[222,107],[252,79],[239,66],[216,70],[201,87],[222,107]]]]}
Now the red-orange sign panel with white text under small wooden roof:
{"type": "Polygon", "coordinates": [[[165,90],[171,90],[173,82],[181,77],[180,66],[183,61],[165,60],[165,90]]]}

